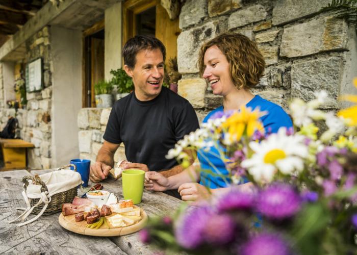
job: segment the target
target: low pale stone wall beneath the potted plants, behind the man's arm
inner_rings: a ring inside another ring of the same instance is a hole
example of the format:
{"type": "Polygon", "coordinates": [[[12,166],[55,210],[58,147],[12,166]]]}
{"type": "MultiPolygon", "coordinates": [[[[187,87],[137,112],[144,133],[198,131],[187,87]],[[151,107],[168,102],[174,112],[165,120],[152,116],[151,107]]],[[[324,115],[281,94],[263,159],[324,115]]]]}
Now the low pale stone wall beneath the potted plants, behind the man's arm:
{"type": "MultiPolygon", "coordinates": [[[[83,108],[78,114],[78,133],[80,158],[95,162],[95,158],[104,142],[103,135],[106,130],[111,108],[83,108]]],[[[123,144],[114,155],[115,163],[125,159],[123,144]]]]}

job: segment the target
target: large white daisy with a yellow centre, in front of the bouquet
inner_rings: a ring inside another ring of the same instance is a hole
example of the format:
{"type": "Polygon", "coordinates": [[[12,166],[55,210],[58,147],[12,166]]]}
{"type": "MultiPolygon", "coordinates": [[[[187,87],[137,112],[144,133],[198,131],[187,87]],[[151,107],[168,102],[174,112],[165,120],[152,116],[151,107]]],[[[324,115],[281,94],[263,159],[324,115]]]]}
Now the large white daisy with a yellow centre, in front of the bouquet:
{"type": "Polygon", "coordinates": [[[285,127],[260,143],[250,142],[249,147],[254,154],[245,159],[241,166],[247,168],[257,182],[271,182],[277,171],[283,174],[301,172],[304,167],[303,159],[309,155],[304,137],[296,134],[287,136],[285,127]]]}

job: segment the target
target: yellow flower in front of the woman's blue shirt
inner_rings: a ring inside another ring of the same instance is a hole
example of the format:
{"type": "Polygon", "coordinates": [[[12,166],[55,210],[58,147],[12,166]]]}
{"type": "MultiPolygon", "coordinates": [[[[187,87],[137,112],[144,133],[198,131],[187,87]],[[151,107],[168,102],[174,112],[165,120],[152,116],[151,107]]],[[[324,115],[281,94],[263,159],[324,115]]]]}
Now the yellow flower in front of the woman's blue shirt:
{"type": "Polygon", "coordinates": [[[239,112],[235,112],[228,117],[221,127],[230,135],[231,141],[239,141],[243,134],[250,137],[256,130],[264,133],[264,126],[259,118],[266,113],[259,111],[259,109],[251,111],[250,108],[243,106],[239,112]]]}

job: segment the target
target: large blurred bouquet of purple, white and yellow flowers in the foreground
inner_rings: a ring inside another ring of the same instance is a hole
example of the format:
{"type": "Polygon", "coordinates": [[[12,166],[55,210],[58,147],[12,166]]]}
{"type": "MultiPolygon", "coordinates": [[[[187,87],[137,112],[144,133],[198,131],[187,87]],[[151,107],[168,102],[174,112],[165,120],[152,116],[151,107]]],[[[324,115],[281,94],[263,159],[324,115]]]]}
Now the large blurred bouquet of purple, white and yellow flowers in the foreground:
{"type": "MultiPolygon", "coordinates": [[[[357,105],[326,113],[318,108],[327,93],[315,95],[292,101],[291,130],[266,134],[259,118],[267,113],[242,108],[217,113],[179,141],[167,157],[184,166],[188,149],[215,146],[230,188],[203,206],[152,219],[142,241],[193,254],[356,254],[357,105]],[[239,188],[243,178],[252,188],[239,188]]],[[[355,95],[344,99],[357,103],[355,95]]]]}

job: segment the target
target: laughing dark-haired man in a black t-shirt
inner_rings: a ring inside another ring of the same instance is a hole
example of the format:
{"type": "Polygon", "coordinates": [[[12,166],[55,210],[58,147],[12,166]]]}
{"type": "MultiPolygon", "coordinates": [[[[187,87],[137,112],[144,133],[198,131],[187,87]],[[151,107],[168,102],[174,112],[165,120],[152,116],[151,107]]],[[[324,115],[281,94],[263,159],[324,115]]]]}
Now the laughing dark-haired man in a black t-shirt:
{"type": "Polygon", "coordinates": [[[184,135],[198,129],[199,124],[188,100],[162,87],[165,53],[163,43],[151,36],[135,36],[125,43],[124,70],[133,79],[135,89],[112,108],[104,144],[91,166],[92,182],[108,176],[121,142],[126,159],[133,162],[124,168],[161,171],[165,176],[183,170],[165,155],[184,135]]]}

